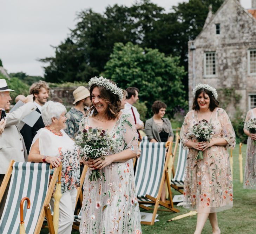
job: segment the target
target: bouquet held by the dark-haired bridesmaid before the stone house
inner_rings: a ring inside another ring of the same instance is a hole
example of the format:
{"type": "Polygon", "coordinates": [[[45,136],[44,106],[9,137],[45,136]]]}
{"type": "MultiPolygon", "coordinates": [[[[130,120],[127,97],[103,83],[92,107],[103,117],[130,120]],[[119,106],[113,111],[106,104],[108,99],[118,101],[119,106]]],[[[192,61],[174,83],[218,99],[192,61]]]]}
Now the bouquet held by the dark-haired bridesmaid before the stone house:
{"type": "MultiPolygon", "coordinates": [[[[209,141],[214,135],[214,125],[209,123],[207,120],[203,119],[196,123],[189,132],[189,136],[194,136],[198,142],[209,141]]],[[[203,159],[203,152],[199,151],[197,154],[197,159],[203,159]]]]}

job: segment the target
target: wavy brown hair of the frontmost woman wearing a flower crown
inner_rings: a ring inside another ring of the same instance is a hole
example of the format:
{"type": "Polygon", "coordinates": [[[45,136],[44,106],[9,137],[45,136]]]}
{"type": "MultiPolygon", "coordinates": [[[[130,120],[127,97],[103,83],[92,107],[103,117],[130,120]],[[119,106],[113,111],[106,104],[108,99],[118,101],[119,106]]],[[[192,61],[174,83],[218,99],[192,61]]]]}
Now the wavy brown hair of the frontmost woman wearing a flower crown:
{"type": "MultiPolygon", "coordinates": [[[[108,79],[109,80],[109,79],[108,79]]],[[[115,84],[114,81],[109,80],[111,83],[115,84]]],[[[121,101],[118,98],[117,94],[113,94],[111,91],[106,89],[104,86],[98,86],[93,84],[90,87],[90,100],[92,100],[92,91],[95,87],[98,87],[101,98],[107,103],[107,111],[105,113],[105,117],[107,119],[115,119],[118,117],[119,112],[121,111],[121,101]]],[[[93,116],[98,114],[96,108],[94,107],[93,103],[90,105],[90,112],[93,116]]]]}

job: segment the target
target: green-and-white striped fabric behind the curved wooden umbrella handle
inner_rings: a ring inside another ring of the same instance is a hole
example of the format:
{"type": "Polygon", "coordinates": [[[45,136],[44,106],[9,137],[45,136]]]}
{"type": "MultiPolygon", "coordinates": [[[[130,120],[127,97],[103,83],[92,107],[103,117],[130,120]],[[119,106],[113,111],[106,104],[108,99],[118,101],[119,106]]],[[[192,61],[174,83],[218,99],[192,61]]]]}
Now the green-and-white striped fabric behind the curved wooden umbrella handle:
{"type": "Polygon", "coordinates": [[[19,234],[20,201],[26,196],[31,202],[30,209],[27,209],[27,203],[24,203],[26,233],[34,233],[48,190],[50,171],[48,163],[14,162],[7,200],[0,220],[1,234],[19,234]]]}

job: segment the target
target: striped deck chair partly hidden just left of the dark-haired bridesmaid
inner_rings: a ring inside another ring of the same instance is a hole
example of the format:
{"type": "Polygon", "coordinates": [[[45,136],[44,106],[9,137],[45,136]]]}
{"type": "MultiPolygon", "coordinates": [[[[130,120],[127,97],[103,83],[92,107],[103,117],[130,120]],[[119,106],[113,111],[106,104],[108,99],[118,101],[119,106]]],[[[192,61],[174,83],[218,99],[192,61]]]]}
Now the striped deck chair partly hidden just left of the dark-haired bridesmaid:
{"type": "Polygon", "coordinates": [[[176,134],[176,142],[175,142],[173,158],[172,158],[173,162],[175,160],[175,154],[178,148],[178,144],[179,144],[178,162],[177,162],[176,172],[174,169],[174,163],[172,166],[173,179],[171,180],[171,187],[183,194],[185,165],[186,165],[186,159],[189,151],[182,148],[182,143],[180,143],[179,135],[176,134]]]}

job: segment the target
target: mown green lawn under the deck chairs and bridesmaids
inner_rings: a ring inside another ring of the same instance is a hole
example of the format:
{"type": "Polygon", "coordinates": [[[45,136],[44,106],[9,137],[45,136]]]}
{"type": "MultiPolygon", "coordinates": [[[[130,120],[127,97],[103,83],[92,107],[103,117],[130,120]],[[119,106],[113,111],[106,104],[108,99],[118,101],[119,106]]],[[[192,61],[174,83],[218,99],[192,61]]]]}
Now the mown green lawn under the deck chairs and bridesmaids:
{"type": "MultiPolygon", "coordinates": [[[[245,161],[246,145],[242,146],[243,165],[245,161]]],[[[178,154],[178,153],[177,153],[178,154]]],[[[239,145],[233,151],[234,166],[233,166],[233,186],[234,186],[234,207],[229,210],[218,213],[218,222],[222,234],[255,234],[256,233],[256,191],[243,189],[243,185],[239,180],[239,145]]],[[[176,155],[176,163],[177,157],[176,155]]],[[[175,163],[175,164],[176,164],[175,163]]],[[[244,169],[244,168],[243,168],[244,169]]],[[[173,194],[179,194],[172,189],[173,194]]],[[[176,207],[176,206],[175,206],[176,207]]],[[[180,219],[177,221],[166,222],[167,220],[180,215],[188,213],[189,210],[183,207],[177,207],[180,213],[161,212],[158,211],[158,218],[160,221],[153,226],[142,225],[142,232],[145,234],[190,234],[193,233],[196,227],[197,215],[180,219]]],[[[145,210],[142,210],[144,211],[145,210]]],[[[47,233],[43,230],[41,233],[47,233]]],[[[72,233],[79,233],[73,231],[72,233]]],[[[203,234],[212,233],[209,220],[203,229],[203,234]]]]}

